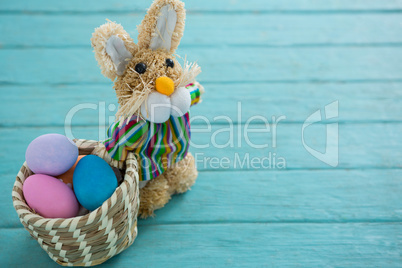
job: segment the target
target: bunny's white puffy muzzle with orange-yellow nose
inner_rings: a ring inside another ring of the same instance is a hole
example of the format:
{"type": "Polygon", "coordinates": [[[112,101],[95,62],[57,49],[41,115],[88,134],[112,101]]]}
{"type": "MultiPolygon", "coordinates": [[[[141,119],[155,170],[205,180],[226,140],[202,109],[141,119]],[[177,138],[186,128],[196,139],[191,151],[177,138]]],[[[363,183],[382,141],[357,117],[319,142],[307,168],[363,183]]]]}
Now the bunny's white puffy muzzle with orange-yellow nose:
{"type": "Polygon", "coordinates": [[[174,89],[173,81],[164,76],[156,79],[155,89],[141,105],[141,115],[146,120],[164,123],[170,116],[180,117],[190,110],[191,96],[185,87],[174,89]]]}

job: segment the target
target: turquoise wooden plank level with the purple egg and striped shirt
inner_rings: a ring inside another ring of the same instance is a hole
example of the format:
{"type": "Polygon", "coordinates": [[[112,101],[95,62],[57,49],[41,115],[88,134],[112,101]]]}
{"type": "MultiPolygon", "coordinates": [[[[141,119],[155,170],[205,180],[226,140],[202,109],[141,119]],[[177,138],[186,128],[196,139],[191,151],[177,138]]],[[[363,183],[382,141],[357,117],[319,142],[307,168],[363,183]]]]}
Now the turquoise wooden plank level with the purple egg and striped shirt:
{"type": "MultiPolygon", "coordinates": [[[[235,125],[231,132],[228,125],[212,125],[210,129],[206,125],[196,125],[192,127],[190,150],[196,154],[200,170],[284,169],[285,167],[290,170],[327,168],[332,170],[329,165],[313,157],[304,148],[302,124],[279,123],[276,134],[273,134],[275,132],[273,126],[270,127],[271,129],[264,125],[252,125],[246,128],[244,125],[235,125]],[[256,130],[260,132],[253,133],[256,130]],[[228,160],[222,160],[223,158],[228,160]],[[252,165],[251,160],[256,161],[255,164],[252,165]]],[[[339,125],[338,168],[401,168],[402,143],[399,135],[401,128],[402,124],[386,123],[339,125]]],[[[46,133],[66,132],[62,127],[0,129],[0,144],[3,148],[0,153],[3,159],[0,163],[0,174],[17,173],[24,162],[28,144],[37,136],[46,133]]],[[[73,127],[72,134],[76,138],[103,140],[105,129],[73,127]]],[[[309,126],[305,129],[304,135],[306,146],[325,152],[325,124],[309,126]]],[[[330,140],[328,150],[335,148],[335,140],[330,140]]]]}

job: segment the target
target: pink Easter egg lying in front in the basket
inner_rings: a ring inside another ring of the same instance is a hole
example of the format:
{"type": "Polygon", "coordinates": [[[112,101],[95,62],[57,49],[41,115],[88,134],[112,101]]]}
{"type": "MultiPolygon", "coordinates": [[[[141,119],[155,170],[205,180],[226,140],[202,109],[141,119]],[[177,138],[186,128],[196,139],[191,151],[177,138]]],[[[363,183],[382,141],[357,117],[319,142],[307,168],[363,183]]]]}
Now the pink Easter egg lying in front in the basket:
{"type": "Polygon", "coordinates": [[[73,190],[54,177],[29,176],[22,191],[27,204],[42,217],[71,218],[78,213],[79,204],[73,190]]]}

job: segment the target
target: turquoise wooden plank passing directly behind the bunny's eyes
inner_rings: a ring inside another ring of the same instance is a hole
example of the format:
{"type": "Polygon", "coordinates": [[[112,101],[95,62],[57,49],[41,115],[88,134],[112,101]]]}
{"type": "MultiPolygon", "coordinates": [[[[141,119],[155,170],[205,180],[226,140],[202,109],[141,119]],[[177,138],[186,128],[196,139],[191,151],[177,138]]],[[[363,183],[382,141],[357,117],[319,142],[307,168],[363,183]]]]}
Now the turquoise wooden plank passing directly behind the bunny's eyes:
{"type": "MultiPolygon", "coordinates": [[[[198,59],[201,82],[320,82],[402,79],[398,47],[191,48],[178,52],[198,59]]],[[[2,84],[110,83],[90,49],[0,50],[2,84]],[[21,64],[23,62],[24,64],[21,64]]],[[[250,84],[250,89],[253,85],[250,84]]]]}

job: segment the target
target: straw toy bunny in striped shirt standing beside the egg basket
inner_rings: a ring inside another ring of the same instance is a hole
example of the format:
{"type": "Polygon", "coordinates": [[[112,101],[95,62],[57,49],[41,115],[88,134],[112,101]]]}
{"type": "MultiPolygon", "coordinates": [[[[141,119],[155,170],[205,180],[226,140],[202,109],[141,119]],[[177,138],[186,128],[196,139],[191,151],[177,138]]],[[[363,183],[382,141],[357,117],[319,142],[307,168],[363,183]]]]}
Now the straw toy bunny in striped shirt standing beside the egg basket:
{"type": "Polygon", "coordinates": [[[190,106],[203,88],[197,64],[184,68],[174,53],[183,36],[184,3],[156,0],[138,26],[138,44],[114,22],[95,30],[92,46],[102,74],[114,81],[119,102],[116,122],[98,155],[121,167],[129,151],[138,160],[139,215],[163,207],[172,194],[183,193],[197,177],[190,142],[190,106]]]}

